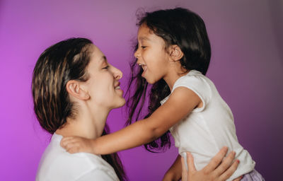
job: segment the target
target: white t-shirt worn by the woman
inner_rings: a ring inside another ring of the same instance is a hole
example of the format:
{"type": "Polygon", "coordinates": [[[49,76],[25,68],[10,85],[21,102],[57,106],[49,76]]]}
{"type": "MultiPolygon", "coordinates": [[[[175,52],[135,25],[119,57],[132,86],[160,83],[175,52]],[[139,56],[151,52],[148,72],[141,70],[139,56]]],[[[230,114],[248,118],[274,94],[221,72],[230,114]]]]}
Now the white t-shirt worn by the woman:
{"type": "Polygon", "coordinates": [[[115,170],[101,156],[68,153],[60,146],[62,136],[53,134],[37,169],[36,181],[119,180],[115,170]]]}

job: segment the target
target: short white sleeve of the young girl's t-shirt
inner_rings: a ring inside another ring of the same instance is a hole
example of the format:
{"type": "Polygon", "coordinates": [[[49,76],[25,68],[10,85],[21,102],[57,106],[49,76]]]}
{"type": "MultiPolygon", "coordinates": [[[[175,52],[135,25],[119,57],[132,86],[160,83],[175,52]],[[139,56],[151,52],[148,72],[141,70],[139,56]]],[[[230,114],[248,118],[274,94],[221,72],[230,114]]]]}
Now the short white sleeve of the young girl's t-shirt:
{"type": "Polygon", "coordinates": [[[175,82],[172,92],[178,87],[189,88],[190,90],[194,91],[202,100],[202,107],[195,108],[195,110],[192,112],[201,112],[204,110],[212,95],[209,83],[207,83],[207,80],[204,76],[183,76],[175,82]]]}

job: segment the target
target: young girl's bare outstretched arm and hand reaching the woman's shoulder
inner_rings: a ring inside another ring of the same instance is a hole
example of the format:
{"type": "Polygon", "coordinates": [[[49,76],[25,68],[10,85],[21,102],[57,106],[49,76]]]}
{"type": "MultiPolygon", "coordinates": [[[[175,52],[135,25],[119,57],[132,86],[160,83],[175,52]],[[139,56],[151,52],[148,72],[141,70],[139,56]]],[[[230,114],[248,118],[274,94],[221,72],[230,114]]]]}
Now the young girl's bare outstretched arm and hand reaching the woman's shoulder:
{"type": "Polygon", "coordinates": [[[120,129],[117,132],[89,140],[79,137],[66,137],[62,147],[69,153],[89,152],[110,154],[147,144],[168,131],[170,127],[188,115],[202,103],[200,97],[185,87],[178,87],[161,107],[146,119],[120,129]]]}

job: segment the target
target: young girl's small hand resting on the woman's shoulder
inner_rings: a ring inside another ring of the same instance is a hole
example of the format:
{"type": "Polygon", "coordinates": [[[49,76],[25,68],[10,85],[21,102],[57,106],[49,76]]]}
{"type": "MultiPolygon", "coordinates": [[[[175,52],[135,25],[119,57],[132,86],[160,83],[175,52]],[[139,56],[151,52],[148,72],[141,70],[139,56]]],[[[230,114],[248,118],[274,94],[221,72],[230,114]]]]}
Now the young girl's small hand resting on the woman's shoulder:
{"type": "Polygon", "coordinates": [[[92,139],[84,139],[79,136],[68,136],[61,140],[60,145],[69,153],[87,152],[94,154],[92,139]]]}

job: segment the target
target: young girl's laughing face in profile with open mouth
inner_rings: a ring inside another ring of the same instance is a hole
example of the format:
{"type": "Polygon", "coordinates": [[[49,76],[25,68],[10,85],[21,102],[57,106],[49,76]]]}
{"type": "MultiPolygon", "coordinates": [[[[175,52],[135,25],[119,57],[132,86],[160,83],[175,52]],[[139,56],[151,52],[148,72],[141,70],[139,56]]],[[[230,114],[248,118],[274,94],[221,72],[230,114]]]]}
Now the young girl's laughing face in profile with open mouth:
{"type": "Polygon", "coordinates": [[[137,64],[144,69],[141,74],[148,83],[156,83],[166,76],[169,66],[169,54],[166,52],[166,43],[152,31],[141,25],[137,35],[138,49],[134,53],[137,64]]]}

